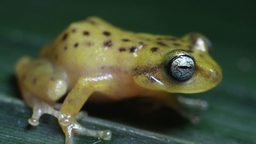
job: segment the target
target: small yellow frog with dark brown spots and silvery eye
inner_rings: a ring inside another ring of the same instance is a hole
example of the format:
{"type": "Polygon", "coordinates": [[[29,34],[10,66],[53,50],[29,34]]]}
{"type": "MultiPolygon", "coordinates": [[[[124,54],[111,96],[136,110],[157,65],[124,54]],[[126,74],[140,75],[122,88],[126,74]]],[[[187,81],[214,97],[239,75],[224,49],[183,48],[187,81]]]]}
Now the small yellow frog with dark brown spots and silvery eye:
{"type": "Polygon", "coordinates": [[[28,122],[36,126],[43,114],[56,117],[69,144],[74,135],[110,140],[110,130],[77,122],[87,100],[152,97],[179,109],[174,93],[204,92],[220,83],[221,67],[210,47],[200,33],[135,33],[98,17],[73,22],[39,58],[25,56],[15,65],[22,98],[33,109],[28,122]]]}

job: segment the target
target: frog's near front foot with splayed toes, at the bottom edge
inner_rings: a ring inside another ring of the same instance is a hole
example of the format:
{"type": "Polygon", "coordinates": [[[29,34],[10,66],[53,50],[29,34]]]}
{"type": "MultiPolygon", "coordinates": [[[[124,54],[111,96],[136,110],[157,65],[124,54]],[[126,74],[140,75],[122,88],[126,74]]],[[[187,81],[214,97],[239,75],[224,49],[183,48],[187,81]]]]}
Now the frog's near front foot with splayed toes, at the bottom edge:
{"type": "MultiPolygon", "coordinates": [[[[62,121],[63,119],[59,119],[59,123],[66,136],[66,144],[73,143],[74,135],[85,135],[89,137],[101,138],[103,140],[111,139],[110,130],[95,131],[95,130],[86,129],[85,127],[80,125],[76,120],[74,120],[73,122],[70,122],[68,125],[64,125],[62,121]]],[[[67,122],[69,120],[66,119],[64,121],[67,122]]]]}

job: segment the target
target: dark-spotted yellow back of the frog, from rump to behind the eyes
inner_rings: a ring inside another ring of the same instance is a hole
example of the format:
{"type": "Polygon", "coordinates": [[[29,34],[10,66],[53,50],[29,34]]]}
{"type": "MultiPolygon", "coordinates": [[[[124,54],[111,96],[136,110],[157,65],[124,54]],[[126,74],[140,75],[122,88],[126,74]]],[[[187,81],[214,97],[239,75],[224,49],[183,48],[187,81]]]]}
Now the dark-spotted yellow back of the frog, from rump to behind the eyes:
{"type": "Polygon", "coordinates": [[[154,55],[162,57],[177,47],[189,50],[190,44],[182,41],[172,36],[125,31],[100,18],[90,17],[71,23],[42,50],[41,57],[64,68],[70,77],[105,73],[113,69],[129,74],[137,69],[139,54],[149,54],[147,61],[153,62],[154,55]]]}

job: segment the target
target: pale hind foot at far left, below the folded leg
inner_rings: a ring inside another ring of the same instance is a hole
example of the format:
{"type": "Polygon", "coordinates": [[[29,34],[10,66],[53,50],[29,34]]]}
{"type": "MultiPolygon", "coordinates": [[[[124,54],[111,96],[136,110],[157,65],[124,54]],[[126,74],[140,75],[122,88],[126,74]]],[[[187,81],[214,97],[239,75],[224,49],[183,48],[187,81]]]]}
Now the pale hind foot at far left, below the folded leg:
{"type": "Polygon", "coordinates": [[[33,115],[31,118],[28,119],[29,124],[34,126],[38,125],[39,118],[43,114],[50,114],[52,116],[57,117],[58,119],[63,117],[63,114],[60,111],[55,110],[51,105],[43,101],[38,101],[38,102],[35,102],[33,106],[33,115]]]}

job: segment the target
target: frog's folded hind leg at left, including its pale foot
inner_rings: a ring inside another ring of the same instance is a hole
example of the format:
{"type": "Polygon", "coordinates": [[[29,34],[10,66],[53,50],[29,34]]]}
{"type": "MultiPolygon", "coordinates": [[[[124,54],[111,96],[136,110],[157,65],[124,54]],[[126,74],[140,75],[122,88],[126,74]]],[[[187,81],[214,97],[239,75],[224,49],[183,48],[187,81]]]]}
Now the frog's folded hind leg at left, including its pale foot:
{"type": "Polygon", "coordinates": [[[60,111],[55,110],[53,105],[67,91],[65,73],[48,60],[27,57],[21,58],[15,69],[22,97],[33,108],[29,123],[38,125],[43,114],[60,118],[60,111]]]}

